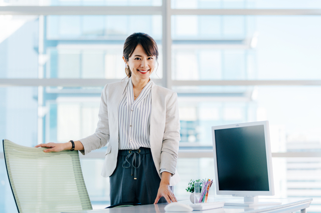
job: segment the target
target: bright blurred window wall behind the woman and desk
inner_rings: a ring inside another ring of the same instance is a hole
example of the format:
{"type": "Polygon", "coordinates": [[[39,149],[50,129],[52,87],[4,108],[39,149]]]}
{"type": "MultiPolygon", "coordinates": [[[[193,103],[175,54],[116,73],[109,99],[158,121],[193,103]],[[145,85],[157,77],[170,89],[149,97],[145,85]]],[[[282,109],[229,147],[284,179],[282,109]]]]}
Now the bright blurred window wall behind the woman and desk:
{"type": "MultiPolygon", "coordinates": [[[[178,93],[174,188],[214,178],[211,126],[269,120],[275,197],[321,211],[321,2],[0,0],[0,135],[35,146],[94,132],[100,92],[123,79],[133,32],[157,42],[158,85],[178,93]]],[[[81,156],[93,208],[109,205],[105,148],[81,156]]],[[[0,147],[0,212],[18,212],[0,147]]]]}

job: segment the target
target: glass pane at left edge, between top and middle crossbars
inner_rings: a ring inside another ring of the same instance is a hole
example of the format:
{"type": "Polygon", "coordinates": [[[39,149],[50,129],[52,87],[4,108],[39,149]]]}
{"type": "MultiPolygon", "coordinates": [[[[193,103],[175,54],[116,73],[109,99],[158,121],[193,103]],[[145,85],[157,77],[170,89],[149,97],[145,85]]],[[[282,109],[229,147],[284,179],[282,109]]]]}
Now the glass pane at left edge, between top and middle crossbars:
{"type": "Polygon", "coordinates": [[[38,16],[0,15],[0,77],[37,78],[38,16]]]}

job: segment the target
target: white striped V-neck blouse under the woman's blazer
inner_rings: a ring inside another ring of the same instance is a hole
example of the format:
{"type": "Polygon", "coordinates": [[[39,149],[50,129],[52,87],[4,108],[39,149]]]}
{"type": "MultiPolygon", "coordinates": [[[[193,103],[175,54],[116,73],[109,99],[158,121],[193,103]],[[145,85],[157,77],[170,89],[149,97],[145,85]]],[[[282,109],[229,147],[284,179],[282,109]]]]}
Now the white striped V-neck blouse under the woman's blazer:
{"type": "Polygon", "coordinates": [[[131,77],[124,89],[118,108],[118,149],[150,148],[151,80],[134,99],[131,77]]]}

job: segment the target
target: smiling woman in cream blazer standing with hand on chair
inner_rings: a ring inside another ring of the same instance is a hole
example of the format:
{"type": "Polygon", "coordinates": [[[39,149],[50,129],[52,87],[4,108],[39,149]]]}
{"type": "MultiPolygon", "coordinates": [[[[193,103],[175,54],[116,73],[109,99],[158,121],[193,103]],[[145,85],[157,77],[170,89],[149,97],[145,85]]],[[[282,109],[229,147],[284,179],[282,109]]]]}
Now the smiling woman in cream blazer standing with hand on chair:
{"type": "Polygon", "coordinates": [[[152,37],[131,34],[123,48],[128,79],[105,85],[95,133],[77,141],[36,146],[48,147],[45,152],[75,149],[87,154],[107,144],[102,175],[110,177],[111,205],[177,201],[170,187],[180,180],[177,93],[150,80],[157,58],[152,37]]]}

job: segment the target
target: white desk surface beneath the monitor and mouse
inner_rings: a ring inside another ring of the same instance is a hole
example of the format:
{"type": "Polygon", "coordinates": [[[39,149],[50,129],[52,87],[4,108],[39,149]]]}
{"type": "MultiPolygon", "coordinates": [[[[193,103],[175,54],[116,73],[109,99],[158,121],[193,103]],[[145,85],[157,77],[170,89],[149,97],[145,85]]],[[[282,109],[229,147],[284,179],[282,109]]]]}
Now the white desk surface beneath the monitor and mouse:
{"type": "MultiPolygon", "coordinates": [[[[235,199],[239,198],[217,198],[215,201],[226,201],[233,202],[235,199]]],[[[246,212],[246,213],[256,213],[256,212],[293,212],[301,209],[305,209],[309,207],[312,198],[260,198],[259,201],[264,202],[281,202],[279,205],[260,205],[260,206],[224,206],[222,208],[214,208],[209,210],[204,210],[202,212],[213,212],[213,213],[238,213],[238,212],[246,212]]],[[[185,203],[189,203],[190,201],[181,201],[185,203]]],[[[84,210],[84,211],[73,211],[73,213],[122,213],[122,212],[132,212],[132,213],[147,213],[147,212],[156,212],[161,213],[165,212],[164,207],[167,203],[159,203],[159,204],[149,204],[149,205],[137,205],[137,206],[128,206],[128,207],[117,207],[117,208],[105,208],[105,209],[93,209],[93,210],[84,210]]],[[[201,212],[201,211],[193,211],[193,212],[201,212]]],[[[301,210],[301,212],[305,212],[305,210],[301,210]]],[[[67,213],[67,212],[63,212],[67,213]]]]}

